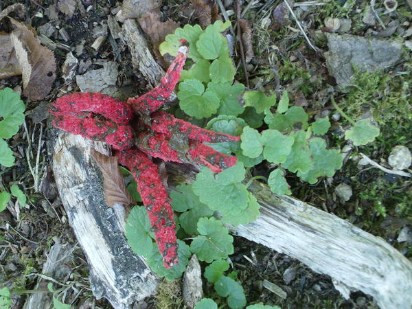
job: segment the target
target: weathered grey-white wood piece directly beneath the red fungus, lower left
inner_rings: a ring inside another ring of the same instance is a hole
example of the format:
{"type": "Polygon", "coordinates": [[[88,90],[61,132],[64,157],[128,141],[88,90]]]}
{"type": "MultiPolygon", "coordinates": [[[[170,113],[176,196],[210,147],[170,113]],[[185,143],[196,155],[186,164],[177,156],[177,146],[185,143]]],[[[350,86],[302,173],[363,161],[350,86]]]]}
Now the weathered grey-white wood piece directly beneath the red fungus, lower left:
{"type": "Polygon", "coordinates": [[[155,294],[158,277],[130,250],[122,207],[106,205],[91,148],[108,155],[102,143],[61,134],[54,148],[54,176],[70,226],[87,257],[93,295],[105,297],[114,308],[131,308],[155,294]]]}

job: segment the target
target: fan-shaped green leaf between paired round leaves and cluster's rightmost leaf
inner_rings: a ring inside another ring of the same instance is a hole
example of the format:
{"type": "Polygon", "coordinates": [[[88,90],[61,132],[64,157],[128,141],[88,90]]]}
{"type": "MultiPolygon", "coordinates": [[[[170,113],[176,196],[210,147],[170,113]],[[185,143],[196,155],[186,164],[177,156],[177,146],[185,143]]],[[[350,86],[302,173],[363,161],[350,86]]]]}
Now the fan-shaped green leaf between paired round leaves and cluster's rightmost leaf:
{"type": "Polygon", "coordinates": [[[288,158],[282,163],[282,166],[293,173],[297,171],[306,173],[313,168],[313,161],[310,156],[308,141],[306,140],[306,132],[299,130],[291,133],[290,136],[292,136],[295,141],[293,142],[292,150],[288,158]]]}

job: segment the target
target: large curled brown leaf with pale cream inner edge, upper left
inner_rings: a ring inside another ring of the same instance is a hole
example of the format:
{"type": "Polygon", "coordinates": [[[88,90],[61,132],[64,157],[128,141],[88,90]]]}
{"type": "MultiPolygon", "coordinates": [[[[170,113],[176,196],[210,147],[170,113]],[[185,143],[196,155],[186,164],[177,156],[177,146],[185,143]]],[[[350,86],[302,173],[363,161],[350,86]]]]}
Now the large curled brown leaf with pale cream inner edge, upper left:
{"type": "Polygon", "coordinates": [[[47,47],[40,45],[23,23],[10,19],[16,26],[11,33],[11,41],[21,67],[24,95],[32,101],[38,101],[52,89],[56,78],[56,60],[47,47]]]}

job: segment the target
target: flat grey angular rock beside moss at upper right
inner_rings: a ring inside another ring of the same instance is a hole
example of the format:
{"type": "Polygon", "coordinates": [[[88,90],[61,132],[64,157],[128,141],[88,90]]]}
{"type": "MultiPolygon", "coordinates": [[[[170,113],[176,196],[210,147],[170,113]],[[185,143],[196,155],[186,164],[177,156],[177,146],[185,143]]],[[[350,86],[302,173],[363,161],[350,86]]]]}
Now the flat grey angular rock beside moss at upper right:
{"type": "Polygon", "coordinates": [[[328,33],[326,37],[326,65],[340,87],[351,84],[354,67],[361,72],[373,72],[391,67],[400,58],[402,44],[396,41],[349,34],[328,33]]]}

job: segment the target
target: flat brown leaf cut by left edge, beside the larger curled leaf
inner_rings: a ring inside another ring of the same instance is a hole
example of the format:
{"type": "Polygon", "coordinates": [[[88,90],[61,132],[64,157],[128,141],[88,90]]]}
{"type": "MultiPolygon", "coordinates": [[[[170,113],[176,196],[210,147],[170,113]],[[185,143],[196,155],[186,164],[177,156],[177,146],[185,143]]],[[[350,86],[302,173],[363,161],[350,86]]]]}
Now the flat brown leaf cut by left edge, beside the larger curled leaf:
{"type": "Polygon", "coordinates": [[[0,78],[21,75],[10,34],[0,32],[0,78]]]}

